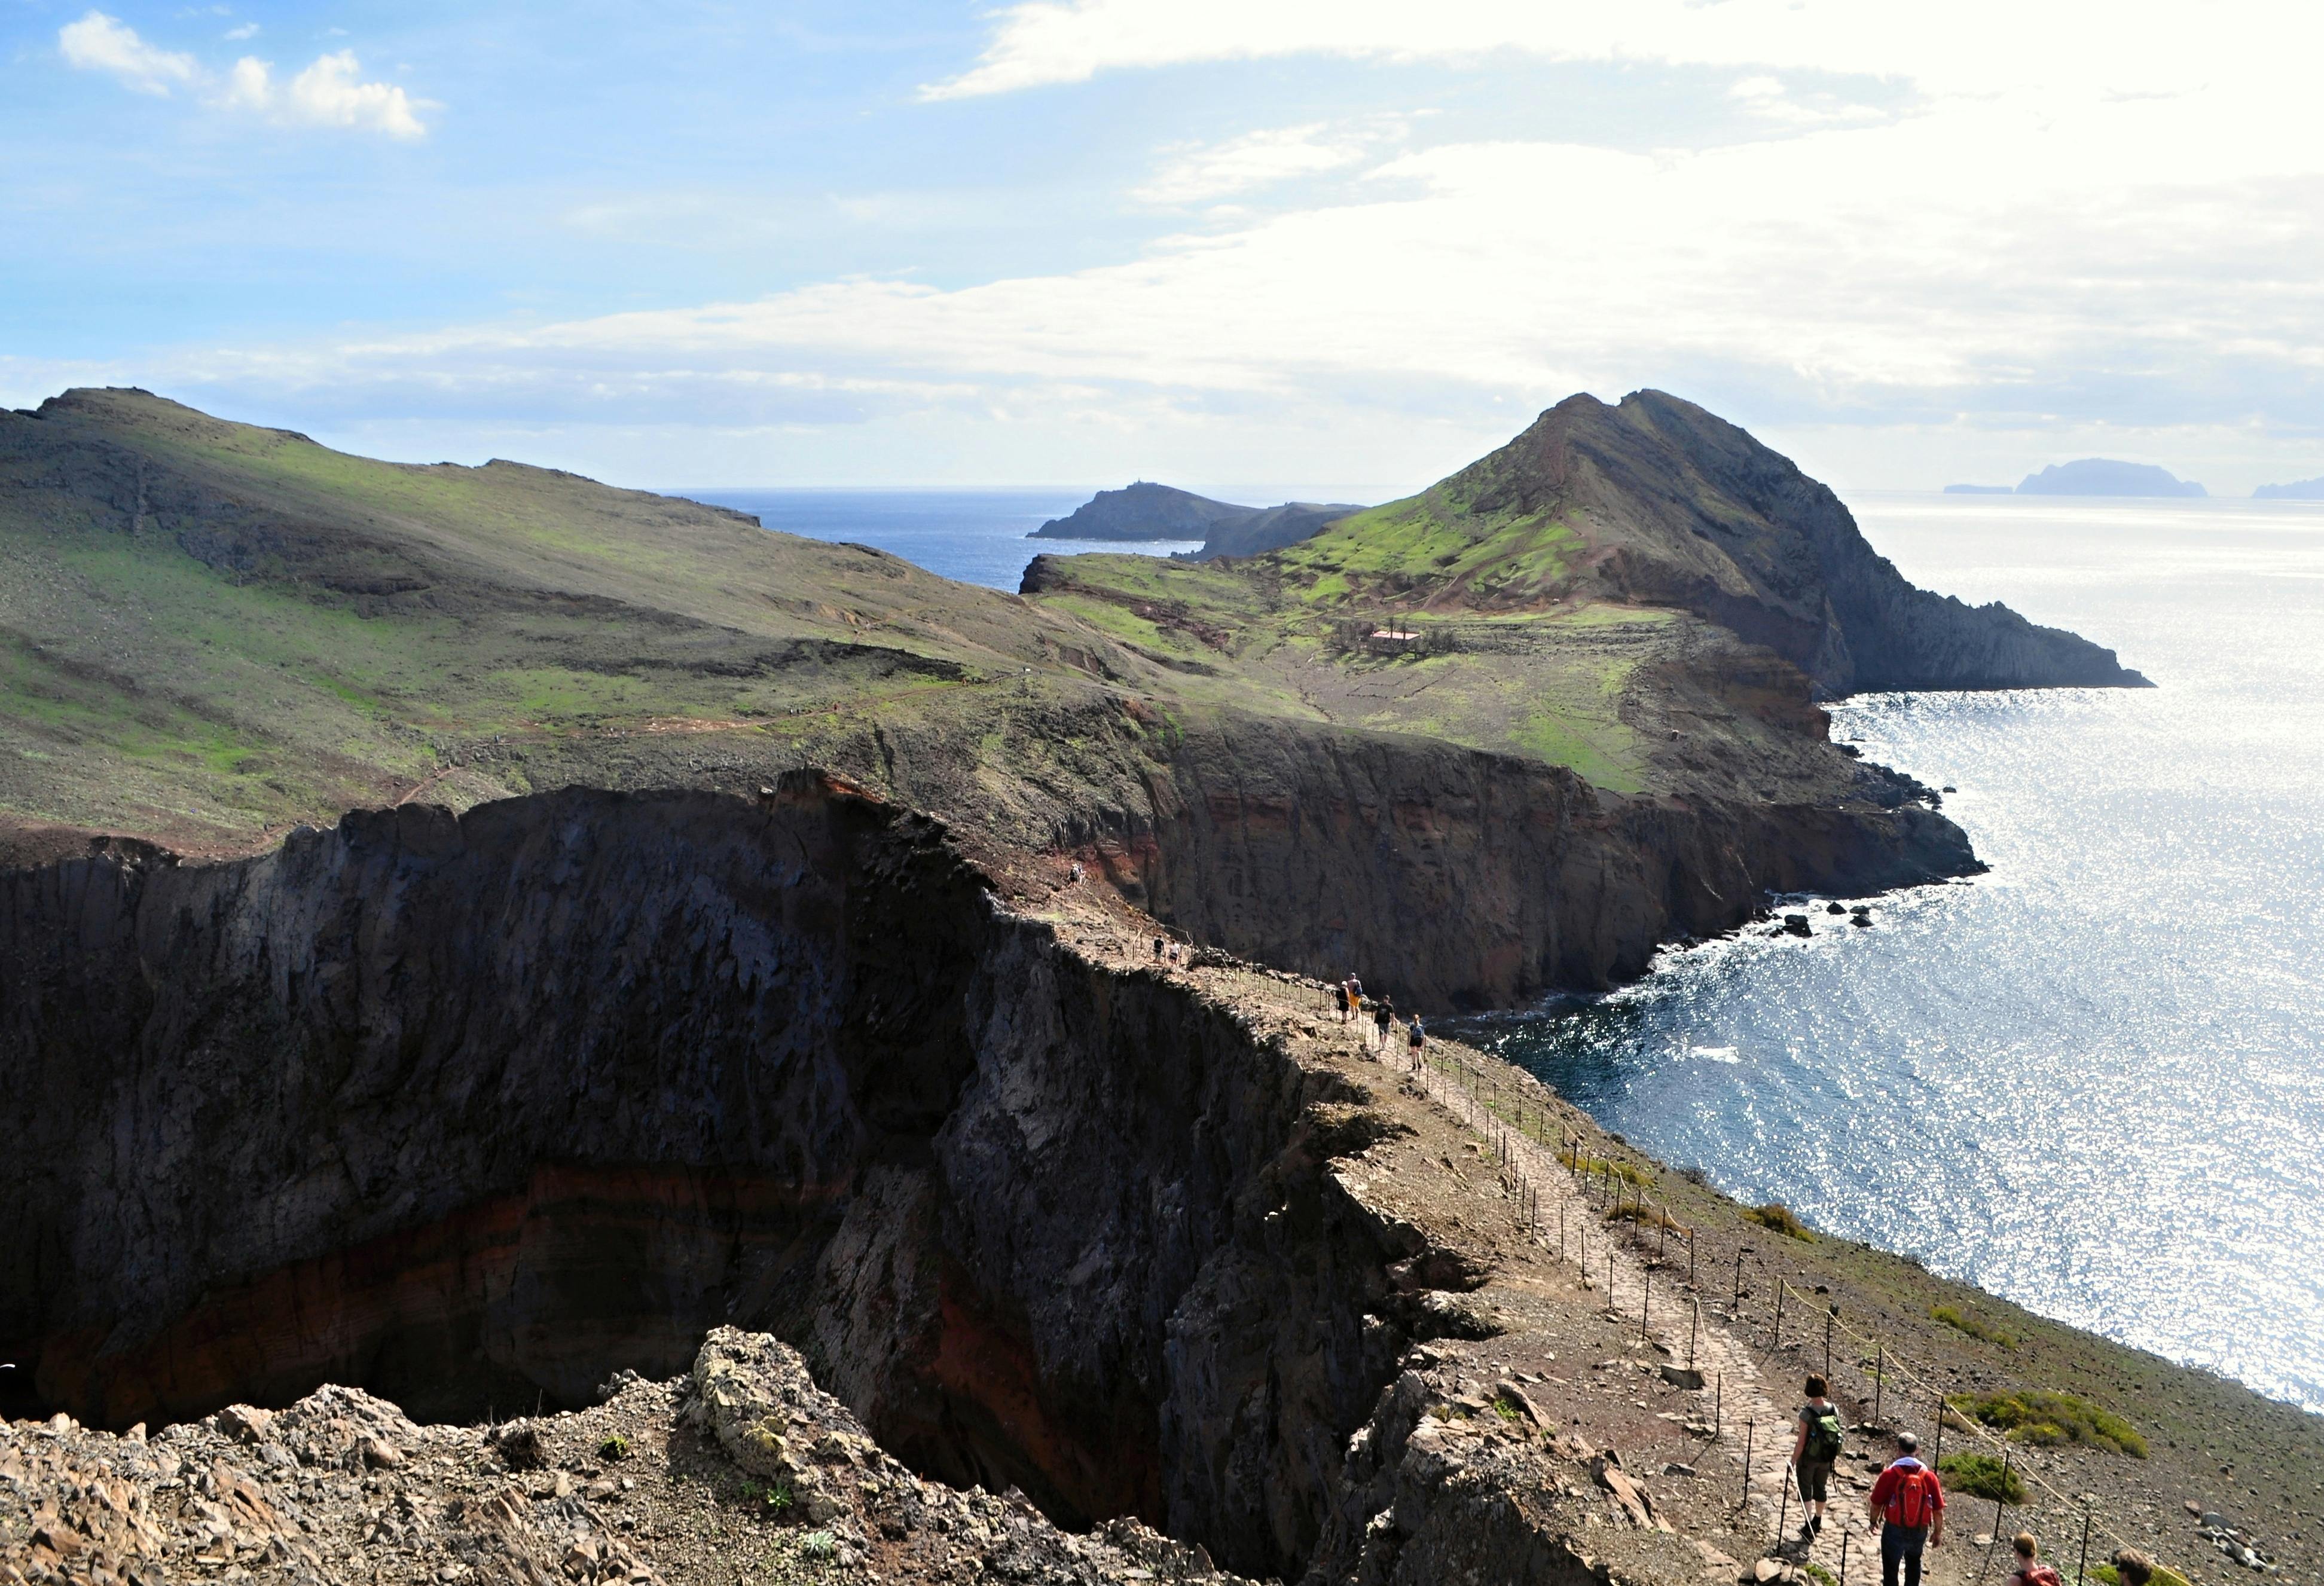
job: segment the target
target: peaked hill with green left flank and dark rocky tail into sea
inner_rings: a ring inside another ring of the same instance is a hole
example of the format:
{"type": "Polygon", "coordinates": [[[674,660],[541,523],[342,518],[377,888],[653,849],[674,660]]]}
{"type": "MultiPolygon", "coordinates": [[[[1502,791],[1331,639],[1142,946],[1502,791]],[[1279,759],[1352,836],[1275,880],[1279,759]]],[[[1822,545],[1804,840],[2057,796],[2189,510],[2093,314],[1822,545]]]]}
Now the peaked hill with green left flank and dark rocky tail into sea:
{"type": "Polygon", "coordinates": [[[1380,613],[1522,613],[1611,599],[1762,643],[1820,694],[2143,685],[2110,650],[2006,606],[1915,590],[1829,488],[1659,390],[1576,395],[1501,450],[1278,557],[1380,613]]]}

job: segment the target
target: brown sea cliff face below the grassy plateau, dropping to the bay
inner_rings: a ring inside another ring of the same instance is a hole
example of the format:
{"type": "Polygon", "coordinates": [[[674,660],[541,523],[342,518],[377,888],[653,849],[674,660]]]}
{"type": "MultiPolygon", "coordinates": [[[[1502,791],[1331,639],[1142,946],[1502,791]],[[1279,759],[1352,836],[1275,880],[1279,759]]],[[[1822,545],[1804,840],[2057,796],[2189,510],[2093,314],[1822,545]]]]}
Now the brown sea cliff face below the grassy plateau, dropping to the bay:
{"type": "Polygon", "coordinates": [[[1769,892],[1982,868],[1892,780],[1889,808],[1631,799],[1513,755],[1227,722],[1188,731],[1146,810],[1067,841],[1197,940],[1355,971],[1406,1008],[1508,1008],[1634,980],[1659,943],[1729,931],[1769,892]]]}

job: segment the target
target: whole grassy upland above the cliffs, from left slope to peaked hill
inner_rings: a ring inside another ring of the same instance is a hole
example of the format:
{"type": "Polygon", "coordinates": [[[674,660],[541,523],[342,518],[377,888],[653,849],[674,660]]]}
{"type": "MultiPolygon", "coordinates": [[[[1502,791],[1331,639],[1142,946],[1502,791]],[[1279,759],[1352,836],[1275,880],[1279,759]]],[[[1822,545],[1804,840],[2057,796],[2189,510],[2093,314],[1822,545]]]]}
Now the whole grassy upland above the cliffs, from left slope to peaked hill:
{"type": "Polygon", "coordinates": [[[358,803],[820,759],[1039,848],[1195,718],[1892,806],[1810,692],[2133,676],[1910,590],[1829,490],[1655,392],[1264,557],[1041,557],[1025,590],[74,390],[0,416],[0,820],[235,850],[358,803]]]}

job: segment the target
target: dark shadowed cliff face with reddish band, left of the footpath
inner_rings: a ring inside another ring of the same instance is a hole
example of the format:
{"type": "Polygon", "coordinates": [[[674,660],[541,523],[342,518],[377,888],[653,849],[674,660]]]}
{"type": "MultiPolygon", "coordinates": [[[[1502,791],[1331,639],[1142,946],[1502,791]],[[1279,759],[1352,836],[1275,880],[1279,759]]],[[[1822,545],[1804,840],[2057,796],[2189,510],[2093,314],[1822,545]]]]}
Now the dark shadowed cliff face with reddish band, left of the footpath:
{"type": "Polygon", "coordinates": [[[934,1477],[1287,1572],[1408,1342],[1339,1082],[816,776],[109,848],[0,947],[19,1412],[574,1405],[739,1321],[934,1477]]]}

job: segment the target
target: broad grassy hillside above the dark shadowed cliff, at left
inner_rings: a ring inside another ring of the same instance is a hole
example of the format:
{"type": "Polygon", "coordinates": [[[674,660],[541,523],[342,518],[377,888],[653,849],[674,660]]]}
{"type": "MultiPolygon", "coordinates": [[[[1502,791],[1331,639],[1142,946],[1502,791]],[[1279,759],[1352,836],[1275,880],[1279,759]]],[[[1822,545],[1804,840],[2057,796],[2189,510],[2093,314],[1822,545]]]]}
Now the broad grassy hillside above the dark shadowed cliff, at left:
{"type": "Polygon", "coordinates": [[[407,467],[142,392],[0,418],[0,813],[232,845],[507,738],[781,734],[1106,643],[718,509],[407,467]]]}

